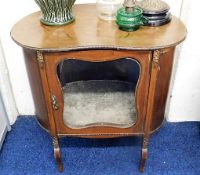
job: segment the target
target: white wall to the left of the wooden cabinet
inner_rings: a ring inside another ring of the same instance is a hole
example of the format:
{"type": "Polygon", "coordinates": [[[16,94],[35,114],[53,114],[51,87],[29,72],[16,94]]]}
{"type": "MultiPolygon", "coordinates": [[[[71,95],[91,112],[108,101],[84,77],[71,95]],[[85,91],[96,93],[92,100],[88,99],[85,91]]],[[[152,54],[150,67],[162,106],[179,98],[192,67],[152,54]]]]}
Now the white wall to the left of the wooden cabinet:
{"type": "MultiPolygon", "coordinates": [[[[23,16],[36,10],[37,6],[33,0],[7,0],[0,5],[0,36],[20,114],[33,114],[34,107],[21,48],[10,38],[10,30],[23,16]]],[[[16,116],[10,120],[16,120],[16,116]]]]}

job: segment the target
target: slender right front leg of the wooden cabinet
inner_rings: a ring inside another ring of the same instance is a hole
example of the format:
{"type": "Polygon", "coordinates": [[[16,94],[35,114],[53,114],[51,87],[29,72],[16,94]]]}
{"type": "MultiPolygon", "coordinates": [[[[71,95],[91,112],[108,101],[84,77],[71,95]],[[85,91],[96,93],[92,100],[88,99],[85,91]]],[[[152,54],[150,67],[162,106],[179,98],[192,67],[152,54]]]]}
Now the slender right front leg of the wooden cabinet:
{"type": "Polygon", "coordinates": [[[141,155],[141,163],[140,163],[140,171],[144,172],[145,163],[148,157],[148,137],[143,138],[143,144],[142,144],[142,155],[141,155]]]}

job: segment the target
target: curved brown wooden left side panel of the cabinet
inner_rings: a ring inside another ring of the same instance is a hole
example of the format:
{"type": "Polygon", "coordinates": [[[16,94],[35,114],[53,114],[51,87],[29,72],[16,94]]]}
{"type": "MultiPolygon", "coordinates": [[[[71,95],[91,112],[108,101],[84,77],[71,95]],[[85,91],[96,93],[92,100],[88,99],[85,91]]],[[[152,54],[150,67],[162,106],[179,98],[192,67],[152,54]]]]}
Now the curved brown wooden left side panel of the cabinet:
{"type": "Polygon", "coordinates": [[[32,96],[35,104],[35,114],[38,122],[44,129],[49,130],[48,113],[42,88],[41,76],[37,62],[37,54],[34,50],[23,49],[26,69],[32,96]]]}

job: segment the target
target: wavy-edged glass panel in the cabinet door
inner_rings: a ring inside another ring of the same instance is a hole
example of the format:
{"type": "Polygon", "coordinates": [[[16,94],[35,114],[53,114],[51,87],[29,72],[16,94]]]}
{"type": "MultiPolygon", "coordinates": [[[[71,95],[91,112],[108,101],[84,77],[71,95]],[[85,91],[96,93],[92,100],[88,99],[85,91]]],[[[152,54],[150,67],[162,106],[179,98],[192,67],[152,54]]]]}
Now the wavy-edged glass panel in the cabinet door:
{"type": "Polygon", "coordinates": [[[135,89],[140,74],[137,61],[69,59],[58,65],[57,72],[64,95],[65,125],[128,128],[135,124],[135,89]]]}

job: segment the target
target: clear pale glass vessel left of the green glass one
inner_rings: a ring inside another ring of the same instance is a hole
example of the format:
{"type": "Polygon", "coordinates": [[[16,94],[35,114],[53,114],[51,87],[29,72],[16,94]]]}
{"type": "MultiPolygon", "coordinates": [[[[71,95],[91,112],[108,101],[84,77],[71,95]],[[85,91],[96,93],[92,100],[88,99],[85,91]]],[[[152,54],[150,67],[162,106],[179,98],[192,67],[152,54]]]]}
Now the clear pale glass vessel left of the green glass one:
{"type": "Polygon", "coordinates": [[[124,0],[97,0],[98,17],[103,20],[115,20],[117,10],[124,0]]]}

